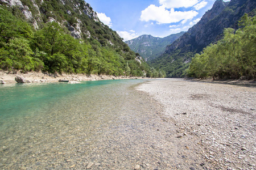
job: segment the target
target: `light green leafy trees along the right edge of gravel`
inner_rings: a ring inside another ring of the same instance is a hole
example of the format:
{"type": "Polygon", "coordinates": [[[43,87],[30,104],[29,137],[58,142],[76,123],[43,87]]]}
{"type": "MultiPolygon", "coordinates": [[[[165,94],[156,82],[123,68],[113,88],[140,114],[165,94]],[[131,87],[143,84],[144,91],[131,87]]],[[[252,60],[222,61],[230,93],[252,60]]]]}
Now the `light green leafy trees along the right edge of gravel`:
{"type": "Polygon", "coordinates": [[[192,59],[187,73],[197,78],[213,79],[246,76],[256,78],[256,16],[243,15],[240,28],[224,30],[224,37],[210,44],[192,59]]]}

